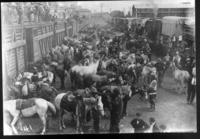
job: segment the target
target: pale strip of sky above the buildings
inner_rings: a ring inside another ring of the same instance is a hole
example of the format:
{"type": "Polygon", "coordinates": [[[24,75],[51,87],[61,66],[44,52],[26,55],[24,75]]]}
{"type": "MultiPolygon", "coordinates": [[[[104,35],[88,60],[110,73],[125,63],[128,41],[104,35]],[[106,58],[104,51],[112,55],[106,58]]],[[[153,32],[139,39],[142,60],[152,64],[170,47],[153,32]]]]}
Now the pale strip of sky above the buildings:
{"type": "Polygon", "coordinates": [[[79,1],[78,6],[87,8],[92,12],[100,12],[101,6],[103,12],[110,12],[113,10],[121,10],[126,13],[130,11],[132,5],[135,7],[195,7],[194,0],[129,0],[129,1],[79,1]]]}

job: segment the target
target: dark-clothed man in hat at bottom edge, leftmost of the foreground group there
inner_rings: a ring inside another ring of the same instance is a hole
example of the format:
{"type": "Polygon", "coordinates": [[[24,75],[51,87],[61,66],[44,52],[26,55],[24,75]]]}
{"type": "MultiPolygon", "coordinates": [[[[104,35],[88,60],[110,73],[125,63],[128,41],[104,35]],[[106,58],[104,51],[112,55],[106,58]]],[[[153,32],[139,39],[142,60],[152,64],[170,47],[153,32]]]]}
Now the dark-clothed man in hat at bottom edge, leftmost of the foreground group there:
{"type": "Polygon", "coordinates": [[[135,130],[135,133],[144,133],[149,128],[149,125],[141,119],[141,114],[136,113],[136,118],[130,123],[135,130]]]}

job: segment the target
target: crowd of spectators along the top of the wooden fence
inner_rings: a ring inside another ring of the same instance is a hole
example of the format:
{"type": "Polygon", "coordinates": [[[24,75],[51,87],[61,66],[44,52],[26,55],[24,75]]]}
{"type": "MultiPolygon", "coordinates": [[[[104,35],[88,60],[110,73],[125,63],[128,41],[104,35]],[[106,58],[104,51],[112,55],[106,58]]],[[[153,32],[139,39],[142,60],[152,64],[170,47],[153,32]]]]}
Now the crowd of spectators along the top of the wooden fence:
{"type": "Polygon", "coordinates": [[[49,22],[58,18],[57,10],[54,10],[52,13],[50,7],[42,3],[4,3],[2,9],[3,22],[7,25],[14,24],[15,22],[17,24],[49,22]],[[8,16],[12,18],[7,18],[8,16]]]}

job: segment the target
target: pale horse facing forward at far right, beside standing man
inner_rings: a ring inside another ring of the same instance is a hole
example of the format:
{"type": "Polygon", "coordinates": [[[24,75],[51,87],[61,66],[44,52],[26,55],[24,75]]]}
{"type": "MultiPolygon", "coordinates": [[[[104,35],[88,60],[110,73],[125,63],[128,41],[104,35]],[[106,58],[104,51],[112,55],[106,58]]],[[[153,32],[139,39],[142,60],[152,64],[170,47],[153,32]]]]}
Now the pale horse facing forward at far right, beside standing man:
{"type": "Polygon", "coordinates": [[[175,88],[176,92],[178,92],[179,94],[181,94],[182,92],[186,93],[186,89],[187,89],[186,82],[189,80],[190,74],[186,70],[178,69],[174,62],[171,63],[171,67],[173,70],[174,80],[177,84],[175,88]]]}

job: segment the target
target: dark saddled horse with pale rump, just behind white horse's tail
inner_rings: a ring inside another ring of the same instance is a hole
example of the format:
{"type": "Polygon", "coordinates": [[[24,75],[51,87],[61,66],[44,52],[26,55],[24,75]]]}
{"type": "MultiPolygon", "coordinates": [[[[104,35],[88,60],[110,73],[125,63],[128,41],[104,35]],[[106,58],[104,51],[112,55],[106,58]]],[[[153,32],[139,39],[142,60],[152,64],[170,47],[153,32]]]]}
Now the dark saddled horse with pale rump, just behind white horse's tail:
{"type": "Polygon", "coordinates": [[[99,111],[102,116],[104,115],[101,97],[84,97],[86,95],[84,92],[84,90],[83,92],[82,90],[77,90],[74,94],[73,92],[68,91],[67,93],[61,93],[56,96],[55,106],[59,111],[60,130],[65,128],[62,118],[64,111],[71,112],[76,117],[76,131],[81,133],[83,132],[83,124],[89,110],[94,108],[99,111]]]}

